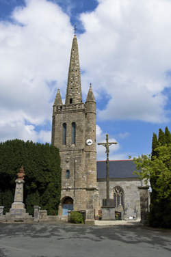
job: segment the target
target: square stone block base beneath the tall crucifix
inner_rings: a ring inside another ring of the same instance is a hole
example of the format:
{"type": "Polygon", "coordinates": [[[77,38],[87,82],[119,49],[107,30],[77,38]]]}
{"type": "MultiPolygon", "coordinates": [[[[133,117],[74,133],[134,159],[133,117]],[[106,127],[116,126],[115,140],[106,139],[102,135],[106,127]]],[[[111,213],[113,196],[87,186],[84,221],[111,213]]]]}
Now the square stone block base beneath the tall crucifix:
{"type": "Polygon", "coordinates": [[[102,220],[115,220],[114,199],[103,199],[102,220]]]}

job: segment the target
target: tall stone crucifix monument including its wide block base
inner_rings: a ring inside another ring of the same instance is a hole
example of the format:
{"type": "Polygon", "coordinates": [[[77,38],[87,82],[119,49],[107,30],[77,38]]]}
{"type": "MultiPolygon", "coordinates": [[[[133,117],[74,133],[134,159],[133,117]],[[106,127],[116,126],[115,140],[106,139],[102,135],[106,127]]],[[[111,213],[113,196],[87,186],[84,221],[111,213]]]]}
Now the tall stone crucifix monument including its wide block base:
{"type": "Polygon", "coordinates": [[[102,206],[102,219],[112,220],[115,219],[115,206],[114,199],[109,197],[109,146],[117,144],[117,142],[109,142],[109,135],[106,134],[106,143],[98,143],[98,145],[105,146],[106,148],[106,199],[103,199],[102,206]]]}

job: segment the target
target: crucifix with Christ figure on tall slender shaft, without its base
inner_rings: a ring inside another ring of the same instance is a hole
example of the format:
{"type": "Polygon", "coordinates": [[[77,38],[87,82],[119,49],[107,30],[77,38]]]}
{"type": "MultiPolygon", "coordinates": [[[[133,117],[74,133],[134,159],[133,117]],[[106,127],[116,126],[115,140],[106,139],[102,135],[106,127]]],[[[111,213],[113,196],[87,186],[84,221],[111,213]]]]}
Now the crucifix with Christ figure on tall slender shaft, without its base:
{"type": "Polygon", "coordinates": [[[106,143],[98,143],[100,146],[105,146],[106,148],[106,196],[109,200],[109,146],[112,144],[118,144],[117,142],[109,142],[109,135],[106,134],[106,143]]]}

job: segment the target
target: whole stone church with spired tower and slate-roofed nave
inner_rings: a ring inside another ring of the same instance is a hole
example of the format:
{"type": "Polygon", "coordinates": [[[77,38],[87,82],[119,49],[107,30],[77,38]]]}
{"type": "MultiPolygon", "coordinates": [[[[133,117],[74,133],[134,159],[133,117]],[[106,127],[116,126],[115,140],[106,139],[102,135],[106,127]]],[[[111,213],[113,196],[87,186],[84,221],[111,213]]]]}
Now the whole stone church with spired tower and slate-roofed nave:
{"type": "MultiPolygon", "coordinates": [[[[60,150],[62,191],[59,215],[86,211],[86,219],[101,213],[106,198],[105,161],[96,161],[96,100],[90,85],[82,101],[77,36],[70,53],[65,104],[57,90],[53,104],[51,144],[60,150]]],[[[131,160],[109,161],[109,198],[122,219],[140,217],[142,181],[131,160]]]]}

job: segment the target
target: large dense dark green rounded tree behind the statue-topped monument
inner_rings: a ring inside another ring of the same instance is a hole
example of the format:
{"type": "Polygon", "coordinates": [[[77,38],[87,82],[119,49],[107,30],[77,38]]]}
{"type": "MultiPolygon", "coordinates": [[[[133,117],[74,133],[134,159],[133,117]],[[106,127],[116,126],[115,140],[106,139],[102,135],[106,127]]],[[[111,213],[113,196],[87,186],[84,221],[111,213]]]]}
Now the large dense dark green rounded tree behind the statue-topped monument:
{"type": "Polygon", "coordinates": [[[34,205],[39,205],[50,215],[57,214],[61,191],[58,149],[18,139],[0,144],[0,205],[5,206],[5,212],[14,201],[16,174],[21,165],[26,174],[24,201],[27,212],[33,214],[34,205]]]}

